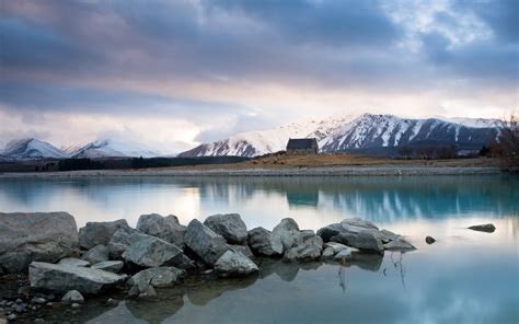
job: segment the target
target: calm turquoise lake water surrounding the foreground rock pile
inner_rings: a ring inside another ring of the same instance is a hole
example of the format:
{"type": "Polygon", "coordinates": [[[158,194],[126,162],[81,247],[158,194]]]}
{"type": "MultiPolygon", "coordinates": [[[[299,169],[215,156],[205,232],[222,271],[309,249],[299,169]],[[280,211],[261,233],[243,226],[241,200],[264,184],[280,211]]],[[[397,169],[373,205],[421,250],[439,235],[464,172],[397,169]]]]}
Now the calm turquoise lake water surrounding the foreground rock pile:
{"type": "MultiPolygon", "coordinates": [[[[182,223],[238,212],[249,229],[281,218],[318,230],[359,217],[417,250],[348,266],[267,262],[260,276],[159,290],[159,301],[88,302],[90,323],[518,323],[519,177],[0,178],[0,211],[88,221],[174,213],[182,223]],[[469,225],[492,222],[494,233],[469,225]],[[434,236],[428,245],[424,239],[434,236]]],[[[59,319],[62,314],[54,314],[59,319]]],[[[70,315],[70,314],[69,314],[70,315]]]]}

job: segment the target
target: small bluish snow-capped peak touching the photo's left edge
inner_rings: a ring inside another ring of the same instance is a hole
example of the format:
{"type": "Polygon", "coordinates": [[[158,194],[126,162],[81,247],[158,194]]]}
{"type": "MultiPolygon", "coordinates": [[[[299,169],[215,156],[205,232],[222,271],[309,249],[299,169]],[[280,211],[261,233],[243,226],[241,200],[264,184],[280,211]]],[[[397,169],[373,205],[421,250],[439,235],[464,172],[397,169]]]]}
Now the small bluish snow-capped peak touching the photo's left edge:
{"type": "Polygon", "coordinates": [[[68,158],[68,154],[58,148],[35,138],[12,140],[5,146],[0,155],[3,157],[3,160],[68,158]]]}

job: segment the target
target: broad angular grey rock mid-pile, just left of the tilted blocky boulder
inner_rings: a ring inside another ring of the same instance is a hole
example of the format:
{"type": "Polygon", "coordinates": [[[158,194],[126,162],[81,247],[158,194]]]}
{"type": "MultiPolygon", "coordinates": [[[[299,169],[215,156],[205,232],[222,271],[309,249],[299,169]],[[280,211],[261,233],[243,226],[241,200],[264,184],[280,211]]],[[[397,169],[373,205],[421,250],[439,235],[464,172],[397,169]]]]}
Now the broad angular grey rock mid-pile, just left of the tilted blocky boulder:
{"type": "Polygon", "coordinates": [[[131,234],[128,240],[123,258],[141,267],[180,266],[187,258],[178,246],[154,236],[131,234]]]}

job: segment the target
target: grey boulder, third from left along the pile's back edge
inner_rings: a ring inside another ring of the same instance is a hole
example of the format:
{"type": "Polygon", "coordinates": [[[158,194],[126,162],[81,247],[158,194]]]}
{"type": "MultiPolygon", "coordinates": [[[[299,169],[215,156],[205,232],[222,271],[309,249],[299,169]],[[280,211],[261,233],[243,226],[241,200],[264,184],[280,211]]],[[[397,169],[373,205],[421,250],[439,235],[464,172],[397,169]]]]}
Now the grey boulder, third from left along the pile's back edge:
{"type": "Polygon", "coordinates": [[[186,227],[181,225],[178,218],[174,215],[166,217],[158,213],[141,215],[137,221],[137,230],[184,248],[186,227]]]}

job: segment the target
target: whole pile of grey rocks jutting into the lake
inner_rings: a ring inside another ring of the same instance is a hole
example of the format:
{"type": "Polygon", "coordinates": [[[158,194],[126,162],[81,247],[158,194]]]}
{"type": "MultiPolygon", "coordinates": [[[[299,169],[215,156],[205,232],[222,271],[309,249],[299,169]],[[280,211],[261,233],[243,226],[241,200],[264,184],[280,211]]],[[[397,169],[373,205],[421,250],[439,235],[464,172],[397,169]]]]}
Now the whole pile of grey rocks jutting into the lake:
{"type": "Polygon", "coordinates": [[[268,259],[286,264],[337,262],[415,247],[403,236],[361,219],[300,230],[285,218],[272,231],[249,230],[240,215],[214,215],[183,225],[173,216],[143,215],[136,229],[126,220],[89,222],[77,229],[67,212],[0,213],[0,269],[16,290],[0,300],[0,323],[33,317],[45,308],[79,310],[90,298],[118,291],[153,299],[155,288],[189,276],[257,276],[268,259]]]}

